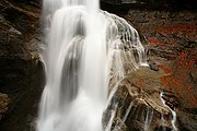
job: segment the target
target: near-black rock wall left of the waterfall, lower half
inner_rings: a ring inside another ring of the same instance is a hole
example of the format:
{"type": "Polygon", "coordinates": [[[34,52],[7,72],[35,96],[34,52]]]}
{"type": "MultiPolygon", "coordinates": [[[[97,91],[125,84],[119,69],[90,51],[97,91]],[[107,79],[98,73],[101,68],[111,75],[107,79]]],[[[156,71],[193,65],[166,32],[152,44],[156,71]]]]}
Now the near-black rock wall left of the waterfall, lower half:
{"type": "Polygon", "coordinates": [[[0,59],[0,129],[32,130],[44,84],[40,62],[19,58],[0,59]]]}

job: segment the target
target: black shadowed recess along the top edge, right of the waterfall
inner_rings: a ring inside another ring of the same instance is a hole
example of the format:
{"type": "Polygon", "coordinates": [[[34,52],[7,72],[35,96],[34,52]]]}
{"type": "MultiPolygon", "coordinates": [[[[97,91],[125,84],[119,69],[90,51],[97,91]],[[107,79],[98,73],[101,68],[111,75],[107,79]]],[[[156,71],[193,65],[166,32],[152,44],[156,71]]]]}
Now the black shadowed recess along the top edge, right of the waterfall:
{"type": "Polygon", "coordinates": [[[196,11],[196,0],[101,0],[101,8],[113,13],[127,13],[130,9],[196,11]]]}

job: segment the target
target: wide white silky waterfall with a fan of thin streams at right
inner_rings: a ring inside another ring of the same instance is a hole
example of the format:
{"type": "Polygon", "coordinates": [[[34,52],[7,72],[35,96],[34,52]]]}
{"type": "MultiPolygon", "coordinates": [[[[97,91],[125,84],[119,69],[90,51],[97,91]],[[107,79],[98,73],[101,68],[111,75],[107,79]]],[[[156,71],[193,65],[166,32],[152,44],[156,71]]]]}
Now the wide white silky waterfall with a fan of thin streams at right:
{"type": "Polygon", "coordinates": [[[137,31],[99,0],[44,0],[46,85],[37,131],[102,131],[108,78],[146,63],[137,31]],[[129,67],[129,69],[125,69],[129,67]]]}

